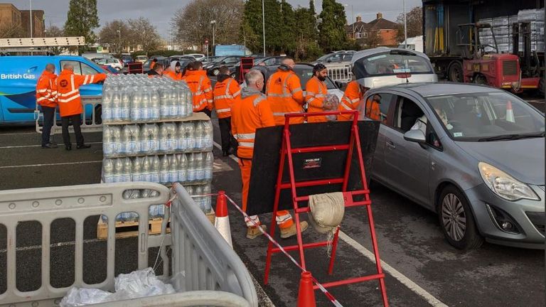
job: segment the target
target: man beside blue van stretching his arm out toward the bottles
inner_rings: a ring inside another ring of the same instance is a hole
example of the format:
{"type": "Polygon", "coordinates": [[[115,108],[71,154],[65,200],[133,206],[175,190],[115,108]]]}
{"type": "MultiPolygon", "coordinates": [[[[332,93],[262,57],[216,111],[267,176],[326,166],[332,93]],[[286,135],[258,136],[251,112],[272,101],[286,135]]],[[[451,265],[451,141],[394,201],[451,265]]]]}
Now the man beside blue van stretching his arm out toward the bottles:
{"type": "Polygon", "coordinates": [[[61,124],[63,125],[63,141],[65,149],[71,150],[70,134],[68,133],[69,121],[72,121],[74,133],[76,134],[76,148],[88,149],[91,145],[84,143],[80,122],[82,120],[82,99],[80,98],[80,86],[91,83],[98,83],[106,79],[103,73],[96,75],[75,75],[74,66],[65,64],[55,84],[57,87],[58,104],[61,124]]]}

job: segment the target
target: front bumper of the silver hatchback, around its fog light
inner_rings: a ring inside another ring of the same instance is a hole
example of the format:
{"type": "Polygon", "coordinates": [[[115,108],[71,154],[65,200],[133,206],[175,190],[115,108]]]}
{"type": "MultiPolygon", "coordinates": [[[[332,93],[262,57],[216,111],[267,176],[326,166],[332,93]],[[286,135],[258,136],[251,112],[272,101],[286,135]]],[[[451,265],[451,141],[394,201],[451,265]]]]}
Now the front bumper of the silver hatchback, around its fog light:
{"type": "Polygon", "coordinates": [[[488,242],[514,247],[545,248],[545,190],[530,185],[540,200],[504,200],[493,193],[485,183],[466,190],[476,218],[478,230],[488,242]],[[501,227],[495,212],[508,215],[517,225],[518,233],[501,227]]]}

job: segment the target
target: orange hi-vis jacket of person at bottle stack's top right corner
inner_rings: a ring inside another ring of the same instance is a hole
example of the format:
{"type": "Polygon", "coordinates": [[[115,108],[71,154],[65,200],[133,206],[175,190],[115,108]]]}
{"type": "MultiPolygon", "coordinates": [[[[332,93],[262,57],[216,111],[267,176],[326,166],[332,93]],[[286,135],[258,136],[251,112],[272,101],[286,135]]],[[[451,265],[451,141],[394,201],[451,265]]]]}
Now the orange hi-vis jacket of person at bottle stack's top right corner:
{"type": "Polygon", "coordinates": [[[193,112],[201,111],[205,107],[213,109],[213,87],[206,70],[188,70],[183,80],[188,83],[193,94],[193,112]]]}

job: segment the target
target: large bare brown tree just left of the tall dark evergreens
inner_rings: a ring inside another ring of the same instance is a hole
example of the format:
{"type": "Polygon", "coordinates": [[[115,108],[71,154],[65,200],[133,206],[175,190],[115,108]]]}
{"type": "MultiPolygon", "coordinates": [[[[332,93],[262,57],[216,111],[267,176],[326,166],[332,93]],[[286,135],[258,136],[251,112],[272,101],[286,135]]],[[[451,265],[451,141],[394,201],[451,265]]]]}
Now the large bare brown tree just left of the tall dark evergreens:
{"type": "Polygon", "coordinates": [[[216,44],[235,43],[240,39],[242,11],[240,0],[193,0],[176,11],[171,23],[181,41],[203,45],[208,39],[212,45],[214,27],[216,44]]]}

